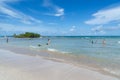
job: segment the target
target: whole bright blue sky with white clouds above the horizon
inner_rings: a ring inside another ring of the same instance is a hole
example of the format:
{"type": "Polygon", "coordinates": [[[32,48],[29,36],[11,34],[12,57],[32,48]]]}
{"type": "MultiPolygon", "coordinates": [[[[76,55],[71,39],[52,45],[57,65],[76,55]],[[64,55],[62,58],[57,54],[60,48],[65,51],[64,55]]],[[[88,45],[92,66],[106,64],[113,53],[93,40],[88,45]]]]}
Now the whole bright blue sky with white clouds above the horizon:
{"type": "Polygon", "coordinates": [[[0,0],[0,35],[120,35],[120,0],[0,0]]]}

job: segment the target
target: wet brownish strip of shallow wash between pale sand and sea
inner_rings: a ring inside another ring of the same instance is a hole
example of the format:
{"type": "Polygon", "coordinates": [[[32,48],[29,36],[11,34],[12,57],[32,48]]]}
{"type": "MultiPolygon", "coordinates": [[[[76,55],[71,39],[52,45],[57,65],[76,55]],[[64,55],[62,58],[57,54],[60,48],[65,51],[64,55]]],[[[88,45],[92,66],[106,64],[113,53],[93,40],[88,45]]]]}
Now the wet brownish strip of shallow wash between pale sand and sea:
{"type": "Polygon", "coordinates": [[[36,49],[34,48],[28,48],[28,47],[18,47],[18,46],[14,46],[14,45],[4,45],[4,46],[0,46],[0,49],[4,49],[4,50],[9,50],[11,52],[14,52],[14,54],[20,54],[20,55],[26,55],[26,56],[33,56],[33,57],[38,57],[38,58],[43,58],[46,60],[50,60],[53,62],[60,62],[60,63],[65,63],[65,64],[70,64],[73,66],[77,66],[77,67],[82,67],[82,68],[86,68],[95,72],[99,72],[101,74],[104,75],[108,75],[108,76],[112,76],[112,77],[116,77],[116,78],[120,78],[117,75],[114,75],[114,73],[111,71],[106,71],[104,70],[104,68],[95,65],[96,63],[89,61],[89,63],[84,62],[84,61],[88,61],[90,60],[89,57],[85,57],[85,56],[73,56],[73,55],[69,55],[69,54],[60,54],[57,52],[50,52],[50,51],[36,51],[36,49]],[[76,61],[77,58],[77,61],[76,61]],[[79,58],[79,60],[78,60],[79,58]]]}

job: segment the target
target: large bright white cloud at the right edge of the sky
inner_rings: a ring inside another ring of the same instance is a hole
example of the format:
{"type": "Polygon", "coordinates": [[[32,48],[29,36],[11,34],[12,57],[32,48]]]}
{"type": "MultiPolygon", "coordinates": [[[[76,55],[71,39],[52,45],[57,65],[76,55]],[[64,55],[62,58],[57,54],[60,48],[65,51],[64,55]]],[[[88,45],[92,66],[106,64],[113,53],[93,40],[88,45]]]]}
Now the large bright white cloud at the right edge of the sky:
{"type": "Polygon", "coordinates": [[[106,10],[100,10],[92,15],[94,18],[86,21],[90,25],[103,25],[110,22],[120,21],[120,6],[113,7],[106,10]]]}

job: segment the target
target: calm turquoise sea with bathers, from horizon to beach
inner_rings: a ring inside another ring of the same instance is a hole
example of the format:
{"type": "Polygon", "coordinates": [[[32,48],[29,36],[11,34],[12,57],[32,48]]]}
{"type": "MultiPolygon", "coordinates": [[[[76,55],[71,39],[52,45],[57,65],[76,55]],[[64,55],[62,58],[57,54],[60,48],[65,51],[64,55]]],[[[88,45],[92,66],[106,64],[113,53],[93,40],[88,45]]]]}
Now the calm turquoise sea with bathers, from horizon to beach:
{"type": "Polygon", "coordinates": [[[0,45],[13,45],[39,51],[74,56],[73,62],[97,66],[120,77],[120,37],[118,36],[60,36],[35,39],[0,38],[0,45]],[[46,45],[49,41],[49,45],[46,45]]]}

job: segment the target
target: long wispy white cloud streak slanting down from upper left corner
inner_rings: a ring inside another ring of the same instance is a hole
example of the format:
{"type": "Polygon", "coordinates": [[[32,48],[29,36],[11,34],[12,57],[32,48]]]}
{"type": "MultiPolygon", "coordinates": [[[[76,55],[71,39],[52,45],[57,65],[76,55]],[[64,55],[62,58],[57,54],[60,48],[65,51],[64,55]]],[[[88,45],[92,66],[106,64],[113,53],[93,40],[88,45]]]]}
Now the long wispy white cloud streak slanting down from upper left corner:
{"type": "Polygon", "coordinates": [[[41,23],[41,20],[35,19],[31,16],[28,16],[22,12],[19,12],[13,8],[11,8],[10,6],[8,6],[6,4],[6,2],[14,2],[14,1],[18,1],[18,0],[2,0],[0,1],[0,12],[2,14],[5,14],[3,16],[9,16],[12,19],[16,19],[22,23],[25,24],[32,24],[32,23],[41,23]]]}

